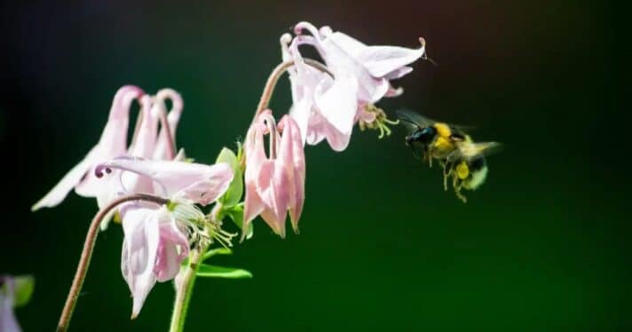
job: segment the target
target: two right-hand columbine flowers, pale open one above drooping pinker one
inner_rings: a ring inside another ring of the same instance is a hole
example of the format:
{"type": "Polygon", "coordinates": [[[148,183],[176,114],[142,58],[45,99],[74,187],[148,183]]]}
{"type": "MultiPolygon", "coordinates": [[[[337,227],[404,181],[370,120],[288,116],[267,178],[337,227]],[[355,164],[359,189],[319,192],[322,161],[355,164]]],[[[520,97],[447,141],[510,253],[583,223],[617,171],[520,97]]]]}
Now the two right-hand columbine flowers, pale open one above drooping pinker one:
{"type": "Polygon", "coordinates": [[[410,73],[408,64],[424,56],[419,49],[396,46],[367,46],[329,27],[296,24],[296,36],[280,37],[281,54],[288,67],[292,107],[279,125],[272,111],[259,110],[250,125],[245,143],[246,199],[244,225],[261,215],[275,233],[285,235],[288,215],[295,231],[304,204],[304,144],[327,140],[335,151],[343,151],[355,123],[361,129],[379,129],[380,138],[394,124],[375,103],[384,97],[399,96],[391,80],[410,73]],[[307,32],[308,35],[304,35],[307,32]],[[319,52],[325,64],[313,66],[298,46],[306,44],[319,52]],[[265,154],[264,136],[270,148],[265,154]]]}

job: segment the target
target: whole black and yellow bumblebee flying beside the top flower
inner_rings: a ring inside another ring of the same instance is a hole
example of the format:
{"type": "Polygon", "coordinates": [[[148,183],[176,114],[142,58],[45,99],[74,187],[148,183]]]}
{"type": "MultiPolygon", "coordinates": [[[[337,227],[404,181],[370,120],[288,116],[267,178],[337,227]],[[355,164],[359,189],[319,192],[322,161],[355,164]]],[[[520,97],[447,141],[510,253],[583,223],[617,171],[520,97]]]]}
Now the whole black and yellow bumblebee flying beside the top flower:
{"type": "Polygon", "coordinates": [[[399,111],[398,115],[399,120],[407,123],[410,133],[406,137],[406,144],[411,147],[413,154],[419,156],[421,150],[424,161],[428,161],[431,167],[432,159],[437,159],[443,167],[444,189],[447,190],[447,179],[452,178],[454,193],[462,202],[466,202],[461,190],[475,190],[485,182],[485,156],[496,151],[500,144],[475,143],[463,127],[439,123],[415,112],[399,111]]]}

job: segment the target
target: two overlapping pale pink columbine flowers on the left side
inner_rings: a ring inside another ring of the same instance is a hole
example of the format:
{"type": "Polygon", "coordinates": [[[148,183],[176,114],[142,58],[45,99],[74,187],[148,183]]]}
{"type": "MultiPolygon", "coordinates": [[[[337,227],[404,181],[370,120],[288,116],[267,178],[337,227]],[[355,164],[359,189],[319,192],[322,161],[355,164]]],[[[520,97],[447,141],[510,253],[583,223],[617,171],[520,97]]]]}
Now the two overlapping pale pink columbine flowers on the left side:
{"type": "Polygon", "coordinates": [[[129,194],[164,199],[165,203],[125,202],[109,214],[122,221],[125,233],[121,270],[134,300],[132,318],[156,281],[176,277],[191,245],[206,239],[206,228],[222,234],[201,212],[178,213],[196,210],[194,204],[215,202],[233,180],[233,170],[226,163],[204,165],[187,162],[184,150],[175,154],[173,137],[182,108],[176,91],[164,89],[150,96],[135,86],[122,87],[115,94],[99,143],[33,207],[55,206],[73,187],[77,194],[97,198],[102,209],[129,194]],[[140,114],[127,146],[130,107],[135,99],[140,114]],[[169,112],[165,99],[173,105],[169,112]]]}

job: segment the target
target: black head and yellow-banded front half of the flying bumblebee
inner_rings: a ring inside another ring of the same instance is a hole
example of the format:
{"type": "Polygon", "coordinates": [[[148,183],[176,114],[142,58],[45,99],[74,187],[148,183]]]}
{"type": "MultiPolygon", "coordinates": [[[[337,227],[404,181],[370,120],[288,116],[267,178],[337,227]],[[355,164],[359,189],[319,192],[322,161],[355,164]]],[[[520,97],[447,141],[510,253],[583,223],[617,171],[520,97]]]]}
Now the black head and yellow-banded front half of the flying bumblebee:
{"type": "Polygon", "coordinates": [[[406,137],[407,146],[411,147],[416,157],[421,150],[423,160],[429,162],[431,167],[432,159],[445,160],[448,154],[454,152],[457,144],[471,142],[470,136],[459,126],[439,123],[410,111],[399,111],[398,118],[407,123],[410,130],[406,137]]]}

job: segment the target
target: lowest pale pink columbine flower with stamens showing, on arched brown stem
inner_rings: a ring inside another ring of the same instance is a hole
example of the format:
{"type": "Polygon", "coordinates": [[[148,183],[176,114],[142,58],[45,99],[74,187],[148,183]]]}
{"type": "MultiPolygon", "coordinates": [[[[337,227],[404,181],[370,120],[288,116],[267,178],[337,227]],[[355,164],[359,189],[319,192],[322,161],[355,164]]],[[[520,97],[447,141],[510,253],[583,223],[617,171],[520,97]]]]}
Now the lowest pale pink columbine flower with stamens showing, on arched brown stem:
{"type": "MultiPolygon", "coordinates": [[[[170,206],[150,203],[127,203],[120,209],[125,239],[122,246],[121,270],[133,296],[132,314],[140,312],[156,281],[170,281],[189,252],[190,240],[223,235],[209,223],[194,203],[207,205],[225,193],[233,180],[233,170],[226,163],[212,166],[190,162],[115,159],[95,169],[98,178],[114,174],[134,173],[154,183],[155,194],[170,199],[170,206]],[[179,205],[182,207],[178,208],[179,205]],[[183,213],[182,210],[189,211],[183,213]],[[197,211],[192,213],[190,211],[197,211]],[[193,216],[193,217],[191,217],[193,216]]],[[[120,190],[125,190],[120,181],[120,190]]],[[[131,193],[129,193],[131,194],[131,193]]],[[[230,238],[228,239],[230,241],[230,238]]]]}

